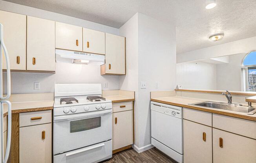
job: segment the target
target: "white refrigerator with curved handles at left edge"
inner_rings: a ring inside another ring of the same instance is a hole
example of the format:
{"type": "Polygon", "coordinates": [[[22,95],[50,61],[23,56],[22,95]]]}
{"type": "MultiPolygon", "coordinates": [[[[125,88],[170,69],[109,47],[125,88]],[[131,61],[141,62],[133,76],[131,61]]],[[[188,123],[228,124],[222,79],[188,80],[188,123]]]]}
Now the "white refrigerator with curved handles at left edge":
{"type": "Polygon", "coordinates": [[[7,49],[4,44],[4,26],[0,23],[0,163],[6,163],[10,147],[11,147],[11,103],[7,99],[11,96],[11,72],[10,72],[10,62],[7,49]],[[4,52],[4,53],[2,53],[4,52]],[[5,60],[3,60],[3,55],[5,60]],[[6,90],[7,94],[3,96],[3,65],[2,63],[6,62],[6,73],[7,78],[6,90]],[[7,147],[4,154],[4,105],[8,110],[8,128],[7,128],[7,147]]]}

